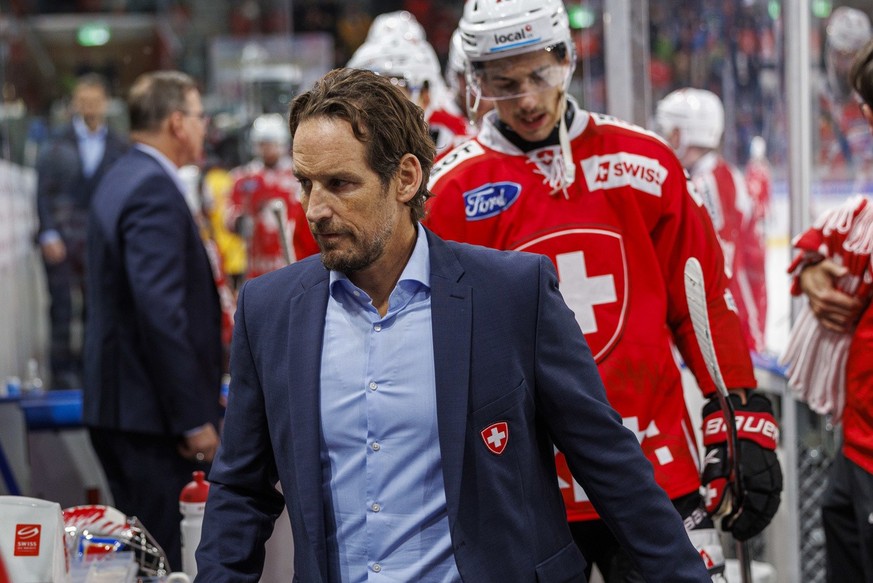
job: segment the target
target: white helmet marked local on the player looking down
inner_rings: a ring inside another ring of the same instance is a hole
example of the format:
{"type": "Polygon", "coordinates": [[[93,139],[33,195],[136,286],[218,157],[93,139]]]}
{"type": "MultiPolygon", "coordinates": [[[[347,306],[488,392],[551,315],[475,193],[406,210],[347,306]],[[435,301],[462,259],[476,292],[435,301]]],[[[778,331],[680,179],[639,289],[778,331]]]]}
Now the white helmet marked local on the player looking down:
{"type": "MultiPolygon", "coordinates": [[[[561,0],[468,0],[458,24],[471,62],[520,55],[564,44],[572,51],[561,0]]],[[[575,57],[573,59],[575,61],[575,57]]]]}

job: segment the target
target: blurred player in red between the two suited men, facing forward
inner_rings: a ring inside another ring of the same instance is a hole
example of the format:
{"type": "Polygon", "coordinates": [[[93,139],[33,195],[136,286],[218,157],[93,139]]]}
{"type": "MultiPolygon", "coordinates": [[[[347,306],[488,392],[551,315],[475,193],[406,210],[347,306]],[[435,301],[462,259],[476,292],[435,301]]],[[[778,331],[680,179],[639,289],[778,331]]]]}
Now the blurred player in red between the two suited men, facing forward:
{"type": "Polygon", "coordinates": [[[288,127],[282,115],[265,114],[252,124],[250,140],[257,156],[233,171],[234,186],[227,208],[228,228],[246,240],[252,278],[290,261],[318,253],[303,207],[297,200],[299,183],[291,170],[288,127]],[[284,209],[284,225],[280,225],[284,209]],[[279,232],[284,227],[288,257],[279,232]]]}

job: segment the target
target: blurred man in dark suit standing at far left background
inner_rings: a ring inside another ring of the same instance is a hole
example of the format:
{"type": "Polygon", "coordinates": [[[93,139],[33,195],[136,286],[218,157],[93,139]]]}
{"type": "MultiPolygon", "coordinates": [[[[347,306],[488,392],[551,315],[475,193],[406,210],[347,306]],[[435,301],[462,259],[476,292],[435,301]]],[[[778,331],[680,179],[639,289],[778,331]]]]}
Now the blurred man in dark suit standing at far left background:
{"type": "Polygon", "coordinates": [[[81,342],[73,341],[74,305],[84,314],[85,230],[88,205],[106,170],[127,145],[106,126],[109,95],[96,73],[73,89],[73,119],[40,152],[36,204],[39,246],[48,283],[50,386],[81,388],[81,342]],[[74,296],[77,298],[74,301],[74,296]]]}

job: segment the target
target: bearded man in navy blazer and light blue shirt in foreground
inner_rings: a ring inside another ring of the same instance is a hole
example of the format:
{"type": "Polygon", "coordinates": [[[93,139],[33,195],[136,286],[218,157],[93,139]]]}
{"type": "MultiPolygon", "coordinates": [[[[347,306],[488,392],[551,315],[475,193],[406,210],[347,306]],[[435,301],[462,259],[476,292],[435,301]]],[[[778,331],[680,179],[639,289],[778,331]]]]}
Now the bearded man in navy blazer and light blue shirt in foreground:
{"type": "Polygon", "coordinates": [[[290,125],[320,261],[240,292],[197,580],[257,581],[284,502],[295,581],[585,581],[557,446],[648,581],[709,581],[548,258],[419,224],[421,109],[338,69],[290,125]]]}

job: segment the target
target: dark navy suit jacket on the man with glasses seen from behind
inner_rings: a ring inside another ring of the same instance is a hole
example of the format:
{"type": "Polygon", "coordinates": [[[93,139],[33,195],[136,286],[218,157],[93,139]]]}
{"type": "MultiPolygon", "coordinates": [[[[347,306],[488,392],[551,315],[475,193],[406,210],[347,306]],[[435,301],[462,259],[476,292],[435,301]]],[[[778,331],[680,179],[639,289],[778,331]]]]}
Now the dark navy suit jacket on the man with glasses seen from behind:
{"type": "Polygon", "coordinates": [[[100,183],[87,260],[85,425],[162,435],[218,427],[212,269],[179,187],[143,151],[131,149],[100,183]]]}

